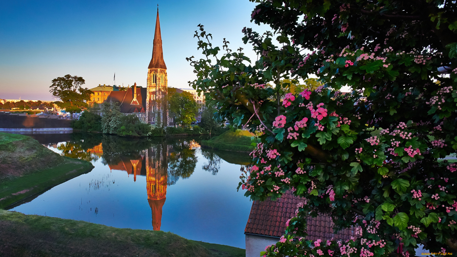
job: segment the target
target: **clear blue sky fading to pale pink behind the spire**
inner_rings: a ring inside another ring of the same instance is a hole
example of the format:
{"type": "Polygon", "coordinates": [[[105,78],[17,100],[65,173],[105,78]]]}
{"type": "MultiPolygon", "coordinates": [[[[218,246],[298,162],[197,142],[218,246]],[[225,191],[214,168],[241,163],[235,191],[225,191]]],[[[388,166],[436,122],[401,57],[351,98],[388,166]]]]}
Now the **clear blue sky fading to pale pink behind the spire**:
{"type": "MultiPolygon", "coordinates": [[[[146,86],[157,4],[168,84],[194,80],[186,57],[197,56],[193,38],[202,23],[221,45],[243,47],[243,27],[254,27],[249,0],[4,0],[0,4],[0,99],[53,100],[51,80],[82,76],[85,86],[146,86]]],[[[246,51],[248,52],[248,51],[246,51]]],[[[247,53],[255,59],[255,55],[247,53]]]]}

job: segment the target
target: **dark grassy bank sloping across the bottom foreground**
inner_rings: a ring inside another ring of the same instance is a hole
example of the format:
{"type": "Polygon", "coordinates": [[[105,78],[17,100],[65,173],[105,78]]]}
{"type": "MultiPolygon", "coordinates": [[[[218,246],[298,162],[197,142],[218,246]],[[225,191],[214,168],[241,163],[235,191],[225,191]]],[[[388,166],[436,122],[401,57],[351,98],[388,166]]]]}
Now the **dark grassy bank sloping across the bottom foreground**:
{"type": "Polygon", "coordinates": [[[244,257],[245,251],[170,232],[118,229],[0,210],[0,256],[244,257]]]}

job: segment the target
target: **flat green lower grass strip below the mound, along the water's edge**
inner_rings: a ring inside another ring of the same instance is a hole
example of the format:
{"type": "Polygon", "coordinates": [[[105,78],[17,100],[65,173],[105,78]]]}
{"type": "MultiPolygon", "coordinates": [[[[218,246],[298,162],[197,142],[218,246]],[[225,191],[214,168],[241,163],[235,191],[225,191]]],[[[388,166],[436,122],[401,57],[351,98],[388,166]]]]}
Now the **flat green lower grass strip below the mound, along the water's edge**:
{"type": "Polygon", "coordinates": [[[52,168],[21,177],[9,177],[0,182],[0,209],[78,177],[93,168],[94,166],[88,161],[64,157],[62,163],[52,168]]]}

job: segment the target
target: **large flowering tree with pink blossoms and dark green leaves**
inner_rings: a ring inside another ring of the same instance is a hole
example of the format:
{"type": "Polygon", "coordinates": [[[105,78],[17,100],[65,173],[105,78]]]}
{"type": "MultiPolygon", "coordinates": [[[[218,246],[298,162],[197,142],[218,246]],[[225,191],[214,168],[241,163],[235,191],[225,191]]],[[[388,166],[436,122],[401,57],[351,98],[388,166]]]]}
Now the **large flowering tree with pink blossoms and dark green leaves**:
{"type": "Polygon", "coordinates": [[[225,39],[219,54],[202,25],[195,37],[205,57],[188,60],[191,86],[219,116],[262,133],[241,177],[246,196],[292,189],[303,198],[285,236],[262,254],[386,256],[403,244],[408,256],[419,243],[456,251],[457,164],[438,160],[457,149],[455,1],[256,2],[252,21],[276,32],[243,29],[257,61],[225,39]],[[280,99],[281,80],[310,74],[324,86],[280,99]],[[299,238],[318,214],[330,215],[335,230],[355,226],[356,236],[299,238]]]}

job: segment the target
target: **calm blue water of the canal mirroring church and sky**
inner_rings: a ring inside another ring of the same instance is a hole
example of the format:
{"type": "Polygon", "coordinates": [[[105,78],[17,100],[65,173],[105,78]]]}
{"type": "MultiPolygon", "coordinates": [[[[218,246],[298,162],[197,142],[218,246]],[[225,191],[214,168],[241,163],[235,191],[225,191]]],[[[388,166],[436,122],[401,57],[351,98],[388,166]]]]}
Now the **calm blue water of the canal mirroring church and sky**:
{"type": "Polygon", "coordinates": [[[31,136],[95,168],[11,210],[245,247],[252,202],[236,187],[247,154],[202,149],[197,137],[31,136]]]}

